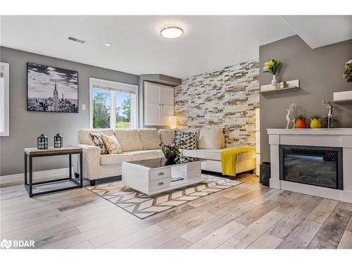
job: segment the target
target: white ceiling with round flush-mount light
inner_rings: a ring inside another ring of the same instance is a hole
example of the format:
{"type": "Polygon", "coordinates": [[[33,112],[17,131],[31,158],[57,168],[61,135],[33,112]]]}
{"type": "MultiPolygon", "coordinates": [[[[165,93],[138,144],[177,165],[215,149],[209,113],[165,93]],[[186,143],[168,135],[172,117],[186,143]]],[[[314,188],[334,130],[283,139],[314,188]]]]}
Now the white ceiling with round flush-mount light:
{"type": "MultiPolygon", "coordinates": [[[[293,34],[302,34],[314,47],[352,38],[351,24],[345,23],[351,16],[338,21],[347,29],[330,26],[329,34],[322,31],[327,28],[321,23],[324,19],[282,19],[278,15],[1,16],[0,45],[137,75],[184,78],[258,58],[258,46],[293,34]],[[302,26],[303,21],[308,23],[302,26]],[[160,37],[166,24],[180,25],[184,35],[179,39],[160,37]],[[70,36],[86,42],[72,42],[70,36]],[[106,42],[112,46],[104,46],[106,42]]],[[[327,23],[335,25],[337,20],[327,23]]]]}

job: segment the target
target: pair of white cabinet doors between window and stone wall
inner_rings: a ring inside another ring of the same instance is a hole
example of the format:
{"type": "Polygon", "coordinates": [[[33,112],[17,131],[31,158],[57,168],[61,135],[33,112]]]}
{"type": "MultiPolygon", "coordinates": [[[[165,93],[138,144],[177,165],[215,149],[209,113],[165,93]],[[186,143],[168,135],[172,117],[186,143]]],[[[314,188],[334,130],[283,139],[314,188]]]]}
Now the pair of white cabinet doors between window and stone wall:
{"type": "Polygon", "coordinates": [[[170,125],[174,115],[174,88],[144,82],[144,125],[170,125]]]}

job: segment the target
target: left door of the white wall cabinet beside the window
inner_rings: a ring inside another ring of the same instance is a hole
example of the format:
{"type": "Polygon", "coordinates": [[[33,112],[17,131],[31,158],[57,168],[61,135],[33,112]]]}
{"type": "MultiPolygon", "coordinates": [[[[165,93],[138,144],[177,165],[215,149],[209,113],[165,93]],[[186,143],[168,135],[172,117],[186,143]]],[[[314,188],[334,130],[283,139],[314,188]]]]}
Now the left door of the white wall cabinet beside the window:
{"type": "Polygon", "coordinates": [[[158,84],[144,82],[144,123],[145,125],[160,125],[161,103],[158,84]]]}

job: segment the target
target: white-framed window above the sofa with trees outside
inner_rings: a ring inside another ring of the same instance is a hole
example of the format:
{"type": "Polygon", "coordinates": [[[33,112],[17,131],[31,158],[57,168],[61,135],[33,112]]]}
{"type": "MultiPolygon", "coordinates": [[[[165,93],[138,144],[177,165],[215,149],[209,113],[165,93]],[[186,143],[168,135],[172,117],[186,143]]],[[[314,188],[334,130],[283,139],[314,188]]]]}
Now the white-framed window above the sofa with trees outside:
{"type": "Polygon", "coordinates": [[[89,78],[90,126],[136,128],[137,85],[89,78]]]}

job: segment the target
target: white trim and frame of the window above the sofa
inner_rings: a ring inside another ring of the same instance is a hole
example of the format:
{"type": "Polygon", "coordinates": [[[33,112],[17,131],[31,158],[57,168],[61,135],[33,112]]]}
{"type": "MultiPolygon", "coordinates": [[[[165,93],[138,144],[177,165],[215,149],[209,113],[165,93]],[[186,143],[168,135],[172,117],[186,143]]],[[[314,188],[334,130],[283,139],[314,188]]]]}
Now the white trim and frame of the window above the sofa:
{"type": "MultiPolygon", "coordinates": [[[[138,94],[138,85],[134,84],[126,84],[123,82],[113,82],[109,80],[102,80],[89,77],[89,127],[93,128],[93,87],[99,86],[109,90],[120,90],[123,91],[131,91],[136,94],[136,125],[138,127],[139,124],[139,94],[138,94]]],[[[115,94],[110,96],[110,101],[115,100],[115,94]]],[[[115,109],[110,109],[111,115],[115,116],[115,109]]],[[[110,127],[113,127],[114,120],[110,118],[110,127]]]]}

